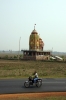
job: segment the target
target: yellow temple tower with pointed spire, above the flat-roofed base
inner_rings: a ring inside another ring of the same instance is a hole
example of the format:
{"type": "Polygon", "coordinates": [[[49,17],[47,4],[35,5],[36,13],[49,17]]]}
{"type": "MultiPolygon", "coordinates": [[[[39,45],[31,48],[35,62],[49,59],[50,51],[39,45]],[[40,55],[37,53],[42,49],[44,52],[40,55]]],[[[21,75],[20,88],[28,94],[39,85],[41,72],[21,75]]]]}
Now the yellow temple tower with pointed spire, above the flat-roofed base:
{"type": "Polygon", "coordinates": [[[44,43],[39,37],[38,32],[35,30],[35,25],[34,30],[31,32],[29,37],[29,50],[43,51],[44,43]]]}

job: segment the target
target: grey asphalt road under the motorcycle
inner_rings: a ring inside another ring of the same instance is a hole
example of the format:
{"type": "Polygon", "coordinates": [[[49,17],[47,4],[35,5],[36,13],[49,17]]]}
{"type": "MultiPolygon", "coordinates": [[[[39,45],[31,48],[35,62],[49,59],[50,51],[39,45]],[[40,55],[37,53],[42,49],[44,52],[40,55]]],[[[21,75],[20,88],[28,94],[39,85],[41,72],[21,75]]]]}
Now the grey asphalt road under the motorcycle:
{"type": "Polygon", "coordinates": [[[40,88],[24,87],[26,79],[0,79],[0,94],[27,92],[66,92],[66,78],[45,78],[40,88]]]}

